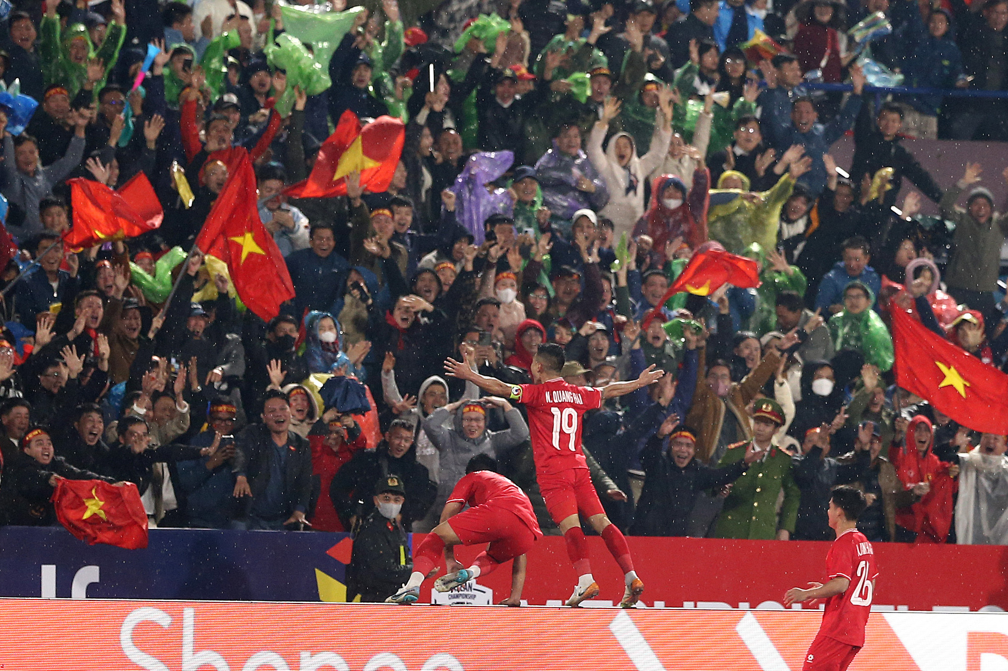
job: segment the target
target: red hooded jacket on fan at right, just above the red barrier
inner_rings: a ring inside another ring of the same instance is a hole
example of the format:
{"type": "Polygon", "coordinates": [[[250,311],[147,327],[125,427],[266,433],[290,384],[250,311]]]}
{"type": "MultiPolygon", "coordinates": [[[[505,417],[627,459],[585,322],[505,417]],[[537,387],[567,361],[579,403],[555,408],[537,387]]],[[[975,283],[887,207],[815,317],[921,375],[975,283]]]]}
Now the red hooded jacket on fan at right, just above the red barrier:
{"type": "Polygon", "coordinates": [[[952,527],[953,495],[959,483],[949,476],[949,462],[941,461],[931,451],[934,446],[934,429],[931,420],[915,415],[906,427],[902,449],[890,449],[889,458],[896,466],[896,476],[904,490],[912,490],[917,483],[927,483],[930,491],[909,508],[896,511],[896,524],[917,534],[918,543],[944,543],[952,527]],[[917,449],[914,432],[923,424],[930,432],[927,449],[921,454],[917,449]]]}

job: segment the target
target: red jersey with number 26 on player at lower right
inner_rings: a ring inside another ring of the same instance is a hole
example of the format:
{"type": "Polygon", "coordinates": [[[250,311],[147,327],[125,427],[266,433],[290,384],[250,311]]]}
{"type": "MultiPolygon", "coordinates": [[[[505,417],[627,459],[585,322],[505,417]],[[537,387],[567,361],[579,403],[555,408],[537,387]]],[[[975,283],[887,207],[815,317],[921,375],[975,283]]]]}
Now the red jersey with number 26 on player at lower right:
{"type": "Polygon", "coordinates": [[[849,529],[830,547],[826,556],[827,579],[846,577],[851,581],[842,594],[826,601],[823,626],[815,638],[828,636],[851,646],[865,645],[865,625],[872,610],[872,580],[878,575],[875,551],[863,533],[849,529]]]}

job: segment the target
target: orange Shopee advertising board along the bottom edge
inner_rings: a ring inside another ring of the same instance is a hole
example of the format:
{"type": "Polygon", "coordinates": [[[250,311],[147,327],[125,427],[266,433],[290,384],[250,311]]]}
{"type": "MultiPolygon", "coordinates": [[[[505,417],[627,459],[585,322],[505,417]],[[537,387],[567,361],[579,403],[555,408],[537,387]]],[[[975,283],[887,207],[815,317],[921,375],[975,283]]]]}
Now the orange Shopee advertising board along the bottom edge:
{"type": "MultiPolygon", "coordinates": [[[[17,671],[797,671],[813,612],[0,598],[17,671]]],[[[851,671],[1008,667],[1008,614],[873,613],[851,671]]]]}

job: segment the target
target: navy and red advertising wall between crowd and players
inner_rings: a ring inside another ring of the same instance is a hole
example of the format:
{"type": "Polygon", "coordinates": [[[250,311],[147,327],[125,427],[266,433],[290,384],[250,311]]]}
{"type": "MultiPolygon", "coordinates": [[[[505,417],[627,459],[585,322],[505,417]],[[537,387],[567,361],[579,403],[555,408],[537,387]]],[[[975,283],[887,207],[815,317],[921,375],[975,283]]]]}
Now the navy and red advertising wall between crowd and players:
{"type": "MultiPolygon", "coordinates": [[[[418,544],[422,536],[414,535],[418,544]]],[[[627,539],[647,589],[646,608],[782,610],[784,592],[823,578],[825,542],[696,538],[627,539]]],[[[605,544],[589,537],[602,593],[612,606],[623,577],[605,544]]],[[[352,541],[347,534],[152,530],[143,550],[85,545],[61,528],[0,528],[0,596],[182,600],[343,601],[352,541]]],[[[477,548],[460,548],[463,562],[477,548]]],[[[1008,610],[1008,546],[875,545],[876,611],[1008,610]]],[[[556,606],[574,573],[563,541],[550,536],[528,557],[523,598],[556,606]]],[[[486,605],[508,595],[510,565],[439,602],[486,605]]],[[[430,599],[429,582],[421,600],[430,599]]],[[[1006,629],[1008,631],[1008,629],[1006,629]]],[[[1008,669],[1008,665],[1005,666],[1008,669]]]]}

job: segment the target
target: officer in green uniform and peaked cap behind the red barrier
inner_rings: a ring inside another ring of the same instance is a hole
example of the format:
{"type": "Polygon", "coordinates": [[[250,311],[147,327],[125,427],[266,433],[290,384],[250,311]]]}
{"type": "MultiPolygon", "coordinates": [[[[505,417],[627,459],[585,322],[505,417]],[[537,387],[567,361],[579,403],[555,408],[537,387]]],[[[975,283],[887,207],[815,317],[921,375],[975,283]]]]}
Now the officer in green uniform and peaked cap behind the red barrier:
{"type": "Polygon", "coordinates": [[[735,481],[718,518],[718,538],[788,540],[794,531],[801,493],[791,477],[791,456],[771,440],[784,423],[780,405],[769,398],[753,405],[753,439],[730,445],[721,466],[741,460],[750,444],[761,456],[745,475],[735,481]],[[784,504],[777,519],[777,500],[781,490],[784,504]]]}

